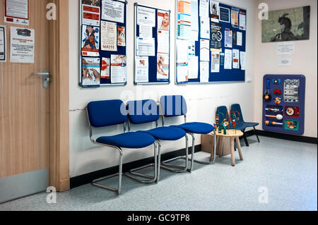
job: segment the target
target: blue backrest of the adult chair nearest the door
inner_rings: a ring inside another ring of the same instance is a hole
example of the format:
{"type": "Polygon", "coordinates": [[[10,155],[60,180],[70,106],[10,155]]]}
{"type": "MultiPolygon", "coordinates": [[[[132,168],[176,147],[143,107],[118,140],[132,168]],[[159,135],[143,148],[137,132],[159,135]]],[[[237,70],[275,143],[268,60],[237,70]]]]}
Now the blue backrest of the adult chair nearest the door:
{"type": "Polygon", "coordinates": [[[101,128],[126,123],[127,111],[121,100],[90,102],[87,106],[90,126],[101,128]]]}

